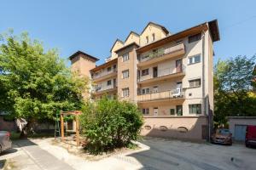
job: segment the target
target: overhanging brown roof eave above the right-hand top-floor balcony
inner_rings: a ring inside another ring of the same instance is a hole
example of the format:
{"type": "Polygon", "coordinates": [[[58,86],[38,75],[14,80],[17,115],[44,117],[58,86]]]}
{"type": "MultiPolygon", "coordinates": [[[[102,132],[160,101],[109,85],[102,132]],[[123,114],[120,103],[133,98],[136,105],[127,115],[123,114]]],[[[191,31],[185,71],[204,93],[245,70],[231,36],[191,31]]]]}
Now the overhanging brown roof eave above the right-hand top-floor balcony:
{"type": "Polygon", "coordinates": [[[220,38],[219,38],[219,32],[218,32],[218,20],[212,20],[212,21],[209,21],[209,22],[205,22],[205,23],[202,23],[198,26],[193,26],[189,29],[186,29],[184,31],[179,31],[175,34],[172,34],[168,37],[164,37],[158,41],[155,41],[155,42],[151,42],[141,48],[137,48],[137,53],[143,53],[144,51],[147,51],[149,49],[152,49],[152,48],[157,48],[161,45],[164,45],[166,44],[167,42],[172,42],[174,40],[177,40],[179,38],[182,38],[182,37],[186,37],[186,36],[189,36],[191,34],[196,34],[196,33],[199,33],[201,31],[207,31],[207,29],[210,30],[210,34],[212,36],[212,41],[213,42],[216,42],[218,41],[220,38]]]}

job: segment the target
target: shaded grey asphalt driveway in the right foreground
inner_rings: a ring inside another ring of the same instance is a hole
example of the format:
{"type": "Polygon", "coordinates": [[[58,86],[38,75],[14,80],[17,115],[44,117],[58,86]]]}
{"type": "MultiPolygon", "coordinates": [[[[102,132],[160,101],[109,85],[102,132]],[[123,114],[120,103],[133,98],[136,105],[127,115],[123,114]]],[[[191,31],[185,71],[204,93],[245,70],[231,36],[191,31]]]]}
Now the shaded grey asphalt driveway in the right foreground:
{"type": "Polygon", "coordinates": [[[142,169],[256,169],[256,150],[243,144],[232,146],[195,144],[177,140],[147,139],[150,150],[131,154],[142,169]]]}

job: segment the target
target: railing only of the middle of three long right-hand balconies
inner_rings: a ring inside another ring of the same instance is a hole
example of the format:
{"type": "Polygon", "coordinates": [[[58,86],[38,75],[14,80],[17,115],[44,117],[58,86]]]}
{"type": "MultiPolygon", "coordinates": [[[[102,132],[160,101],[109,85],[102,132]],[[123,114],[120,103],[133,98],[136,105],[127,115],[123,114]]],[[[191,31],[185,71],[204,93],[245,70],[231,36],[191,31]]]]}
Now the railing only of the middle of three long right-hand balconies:
{"type": "Polygon", "coordinates": [[[185,65],[177,66],[176,68],[166,68],[166,69],[159,69],[157,73],[152,73],[146,76],[141,76],[137,78],[138,82],[142,82],[144,80],[156,78],[156,77],[165,77],[168,75],[174,75],[177,73],[184,73],[185,72],[185,65]]]}

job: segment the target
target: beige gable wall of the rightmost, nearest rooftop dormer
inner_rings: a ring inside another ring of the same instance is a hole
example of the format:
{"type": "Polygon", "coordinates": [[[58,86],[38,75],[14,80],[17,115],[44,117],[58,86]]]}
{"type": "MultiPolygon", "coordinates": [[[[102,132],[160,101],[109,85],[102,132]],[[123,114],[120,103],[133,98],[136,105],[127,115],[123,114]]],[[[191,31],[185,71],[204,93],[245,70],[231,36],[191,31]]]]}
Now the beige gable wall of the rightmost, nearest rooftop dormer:
{"type": "Polygon", "coordinates": [[[163,37],[166,37],[165,31],[163,31],[160,26],[155,26],[154,24],[148,25],[140,36],[140,46],[146,45],[146,37],[148,36],[148,43],[152,42],[152,34],[154,33],[155,40],[157,41],[163,37]]]}

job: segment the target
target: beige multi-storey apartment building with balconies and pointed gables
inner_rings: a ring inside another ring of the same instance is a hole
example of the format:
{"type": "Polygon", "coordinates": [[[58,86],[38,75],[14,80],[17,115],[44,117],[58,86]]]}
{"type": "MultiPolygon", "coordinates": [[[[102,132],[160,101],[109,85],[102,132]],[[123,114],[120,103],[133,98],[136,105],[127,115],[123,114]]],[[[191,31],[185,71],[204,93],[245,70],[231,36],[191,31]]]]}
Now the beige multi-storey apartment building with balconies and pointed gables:
{"type": "Polygon", "coordinates": [[[213,114],[213,42],[218,40],[217,20],[177,33],[149,22],[140,34],[131,31],[125,41],[117,39],[103,65],[95,66],[97,59],[89,54],[70,59],[92,79],[91,98],[116,96],[138,105],[143,135],[207,139],[213,114]]]}

